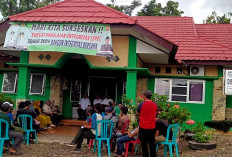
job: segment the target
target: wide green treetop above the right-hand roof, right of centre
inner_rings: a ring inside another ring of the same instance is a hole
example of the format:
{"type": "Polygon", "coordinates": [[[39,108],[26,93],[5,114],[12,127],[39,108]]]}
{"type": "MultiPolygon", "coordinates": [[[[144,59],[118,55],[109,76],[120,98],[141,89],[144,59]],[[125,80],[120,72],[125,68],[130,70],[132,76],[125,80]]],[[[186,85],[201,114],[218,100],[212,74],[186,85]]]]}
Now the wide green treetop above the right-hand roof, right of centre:
{"type": "Polygon", "coordinates": [[[184,12],[179,10],[179,3],[168,1],[165,7],[156,0],[151,0],[138,12],[138,16],[181,16],[184,12]]]}

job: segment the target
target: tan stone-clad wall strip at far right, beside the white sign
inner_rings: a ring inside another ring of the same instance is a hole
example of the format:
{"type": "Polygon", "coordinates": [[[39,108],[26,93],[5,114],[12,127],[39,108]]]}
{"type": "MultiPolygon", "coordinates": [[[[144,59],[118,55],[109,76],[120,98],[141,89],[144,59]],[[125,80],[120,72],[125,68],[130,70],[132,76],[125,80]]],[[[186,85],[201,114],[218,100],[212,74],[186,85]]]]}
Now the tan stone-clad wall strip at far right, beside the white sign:
{"type": "Polygon", "coordinates": [[[223,78],[214,80],[213,89],[213,120],[225,120],[226,96],[223,94],[223,78]]]}

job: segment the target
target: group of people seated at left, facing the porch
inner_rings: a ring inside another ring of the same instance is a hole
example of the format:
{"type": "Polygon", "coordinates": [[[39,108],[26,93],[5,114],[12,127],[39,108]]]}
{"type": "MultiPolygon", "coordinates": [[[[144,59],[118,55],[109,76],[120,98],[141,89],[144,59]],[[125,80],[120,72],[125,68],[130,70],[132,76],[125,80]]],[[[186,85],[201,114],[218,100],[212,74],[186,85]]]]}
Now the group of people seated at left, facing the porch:
{"type": "MultiPolygon", "coordinates": [[[[54,105],[54,101],[25,101],[20,102],[17,112],[13,109],[13,104],[9,102],[0,103],[0,119],[4,119],[9,123],[9,138],[5,141],[4,151],[10,151],[10,154],[21,155],[19,151],[20,145],[23,142],[23,136],[25,131],[20,128],[18,121],[19,115],[26,114],[33,118],[32,127],[36,130],[36,134],[40,131],[47,130],[47,128],[55,127],[59,125],[62,119],[62,115],[59,111],[59,107],[54,105]],[[14,139],[14,142],[11,142],[14,139]]],[[[28,123],[29,124],[29,123],[28,123]]],[[[4,135],[4,126],[1,129],[2,135],[4,135]]],[[[34,143],[35,134],[30,134],[30,143],[34,143]]]]}

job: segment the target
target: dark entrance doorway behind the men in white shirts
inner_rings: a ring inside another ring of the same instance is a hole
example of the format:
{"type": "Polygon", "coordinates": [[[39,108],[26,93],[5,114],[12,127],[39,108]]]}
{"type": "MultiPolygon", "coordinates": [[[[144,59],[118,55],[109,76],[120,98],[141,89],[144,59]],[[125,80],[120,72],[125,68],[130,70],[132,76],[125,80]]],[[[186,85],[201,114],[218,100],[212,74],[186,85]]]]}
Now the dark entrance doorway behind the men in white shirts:
{"type": "Polygon", "coordinates": [[[96,95],[102,99],[109,95],[115,101],[117,93],[117,78],[113,77],[90,77],[89,98],[93,102],[96,95]]]}

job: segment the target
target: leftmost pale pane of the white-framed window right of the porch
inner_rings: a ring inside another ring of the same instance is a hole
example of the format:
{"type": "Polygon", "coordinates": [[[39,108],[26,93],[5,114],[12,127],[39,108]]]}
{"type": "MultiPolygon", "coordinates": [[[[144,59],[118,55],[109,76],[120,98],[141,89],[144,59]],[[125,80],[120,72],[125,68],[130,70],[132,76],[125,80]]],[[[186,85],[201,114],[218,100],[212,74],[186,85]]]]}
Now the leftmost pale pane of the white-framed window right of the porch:
{"type": "Polygon", "coordinates": [[[169,95],[170,84],[169,80],[157,79],[156,81],[156,93],[159,95],[169,95]]]}

